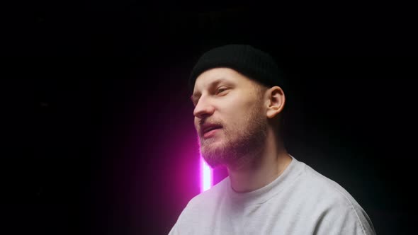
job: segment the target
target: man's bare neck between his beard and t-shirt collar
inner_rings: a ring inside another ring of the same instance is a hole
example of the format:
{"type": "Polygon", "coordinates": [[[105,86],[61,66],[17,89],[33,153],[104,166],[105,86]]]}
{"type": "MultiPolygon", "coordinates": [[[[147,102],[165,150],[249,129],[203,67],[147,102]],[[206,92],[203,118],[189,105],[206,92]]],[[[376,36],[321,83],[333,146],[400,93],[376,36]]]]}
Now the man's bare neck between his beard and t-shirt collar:
{"type": "Polygon", "coordinates": [[[263,150],[242,159],[242,162],[227,165],[232,188],[238,193],[263,188],[278,178],[292,161],[283,144],[276,144],[275,139],[269,137],[263,150]]]}

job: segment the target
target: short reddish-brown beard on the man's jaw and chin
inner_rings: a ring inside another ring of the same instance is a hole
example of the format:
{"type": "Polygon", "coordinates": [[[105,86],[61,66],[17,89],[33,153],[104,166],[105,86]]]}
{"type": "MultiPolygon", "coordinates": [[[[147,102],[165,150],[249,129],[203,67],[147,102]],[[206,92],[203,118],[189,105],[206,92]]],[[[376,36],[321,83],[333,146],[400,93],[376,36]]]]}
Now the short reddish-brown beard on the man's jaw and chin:
{"type": "Polygon", "coordinates": [[[253,108],[239,130],[230,130],[221,122],[222,143],[215,138],[200,137],[200,155],[211,167],[239,164],[254,160],[264,147],[267,136],[267,120],[260,108],[253,108]]]}

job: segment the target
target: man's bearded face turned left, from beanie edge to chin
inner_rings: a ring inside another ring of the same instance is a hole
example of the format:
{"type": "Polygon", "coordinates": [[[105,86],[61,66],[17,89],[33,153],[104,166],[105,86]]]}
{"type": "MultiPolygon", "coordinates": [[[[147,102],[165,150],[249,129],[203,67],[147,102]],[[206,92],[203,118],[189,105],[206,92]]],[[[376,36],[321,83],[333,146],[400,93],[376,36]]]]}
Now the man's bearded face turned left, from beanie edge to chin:
{"type": "Polygon", "coordinates": [[[233,69],[210,69],[196,79],[192,101],[200,154],[210,166],[233,164],[261,151],[267,120],[254,81],[233,69]]]}

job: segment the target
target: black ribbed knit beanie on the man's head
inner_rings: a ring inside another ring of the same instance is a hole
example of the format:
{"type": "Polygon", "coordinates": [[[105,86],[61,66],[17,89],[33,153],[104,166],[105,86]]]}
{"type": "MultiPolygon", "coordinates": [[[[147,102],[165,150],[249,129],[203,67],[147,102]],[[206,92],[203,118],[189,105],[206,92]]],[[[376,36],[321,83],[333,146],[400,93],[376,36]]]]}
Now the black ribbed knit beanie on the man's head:
{"type": "Polygon", "coordinates": [[[208,69],[227,67],[259,81],[265,86],[281,86],[281,71],[273,57],[250,45],[224,45],[205,52],[193,67],[189,88],[193,91],[197,77],[208,69]]]}

